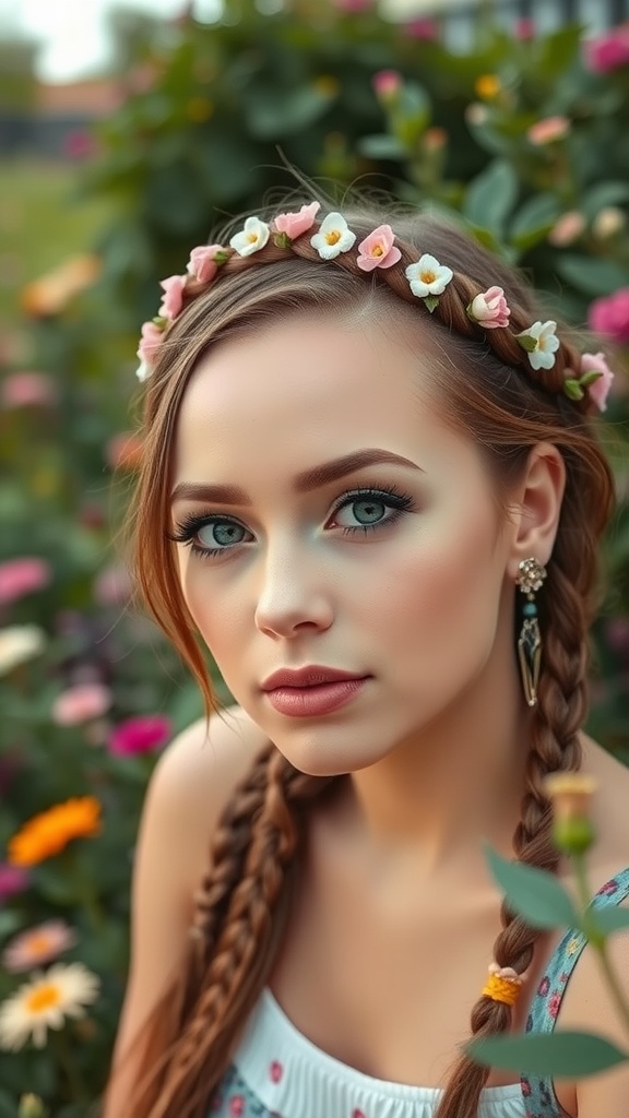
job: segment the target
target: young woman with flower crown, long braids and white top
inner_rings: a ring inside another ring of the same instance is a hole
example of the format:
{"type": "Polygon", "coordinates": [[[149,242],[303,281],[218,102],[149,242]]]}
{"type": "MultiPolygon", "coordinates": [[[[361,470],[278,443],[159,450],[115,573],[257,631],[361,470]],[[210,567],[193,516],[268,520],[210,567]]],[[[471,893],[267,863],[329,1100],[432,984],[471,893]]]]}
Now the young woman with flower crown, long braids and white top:
{"type": "Polygon", "coordinates": [[[106,1118],[628,1112],[625,1067],[462,1052],[529,1014],[623,1040],[591,953],[504,910],[482,853],[569,877],[544,777],[583,766],[592,880],[629,891],[629,774],[582,731],[603,354],[424,217],[252,217],[162,288],[138,577],[237,705],[149,790],[106,1118]]]}

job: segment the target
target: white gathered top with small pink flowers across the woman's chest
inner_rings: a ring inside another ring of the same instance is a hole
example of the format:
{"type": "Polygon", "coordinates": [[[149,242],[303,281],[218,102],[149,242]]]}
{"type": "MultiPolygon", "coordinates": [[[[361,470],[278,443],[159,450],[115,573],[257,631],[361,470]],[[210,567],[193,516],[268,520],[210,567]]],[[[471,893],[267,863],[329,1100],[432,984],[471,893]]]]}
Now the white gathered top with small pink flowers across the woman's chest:
{"type": "MultiPolygon", "coordinates": [[[[433,1118],[441,1091],[365,1076],[300,1033],[269,989],[233,1064],[271,1115],[283,1118],[433,1118]]],[[[229,1112],[229,1111],[226,1111],[229,1112]]],[[[484,1090],[479,1118],[526,1118],[519,1083],[484,1090]]]]}

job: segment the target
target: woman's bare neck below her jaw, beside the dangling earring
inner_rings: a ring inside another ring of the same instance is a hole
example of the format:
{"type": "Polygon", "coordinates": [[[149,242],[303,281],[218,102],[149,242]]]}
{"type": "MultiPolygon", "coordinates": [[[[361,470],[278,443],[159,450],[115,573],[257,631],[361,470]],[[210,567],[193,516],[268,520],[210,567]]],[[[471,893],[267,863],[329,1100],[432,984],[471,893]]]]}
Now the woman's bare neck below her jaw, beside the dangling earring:
{"type": "Polygon", "coordinates": [[[508,656],[439,722],[351,777],[375,851],[409,855],[426,874],[478,863],[488,841],[506,856],[520,815],[531,718],[508,656]]]}

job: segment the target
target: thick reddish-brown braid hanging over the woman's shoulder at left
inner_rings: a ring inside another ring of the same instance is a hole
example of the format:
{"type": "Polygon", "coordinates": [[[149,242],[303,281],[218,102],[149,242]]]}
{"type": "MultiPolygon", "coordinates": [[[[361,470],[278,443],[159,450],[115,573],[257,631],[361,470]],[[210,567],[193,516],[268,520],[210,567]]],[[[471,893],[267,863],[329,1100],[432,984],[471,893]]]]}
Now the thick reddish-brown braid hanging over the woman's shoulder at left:
{"type": "Polygon", "coordinates": [[[157,1091],[151,1077],[150,1118],[203,1118],[207,1110],[285,926],[308,807],[334,783],[299,773],[269,746],[227,806],[196,898],[179,1036],[157,1091]]]}

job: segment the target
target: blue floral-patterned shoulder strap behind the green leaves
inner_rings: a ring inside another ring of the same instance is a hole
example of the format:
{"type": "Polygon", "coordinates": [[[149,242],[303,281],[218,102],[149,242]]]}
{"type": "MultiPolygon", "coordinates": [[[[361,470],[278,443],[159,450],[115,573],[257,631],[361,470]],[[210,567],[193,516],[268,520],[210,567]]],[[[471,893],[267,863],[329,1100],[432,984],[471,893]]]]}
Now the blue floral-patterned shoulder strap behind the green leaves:
{"type": "MultiPolygon", "coordinates": [[[[629,897],[629,868],[607,881],[592,900],[595,909],[620,904],[629,897]]],[[[552,1033],[571,975],[588,942],[582,931],[567,931],[553,953],[546,973],[533,997],[526,1022],[527,1033],[552,1033]]],[[[563,1118],[553,1082],[534,1076],[522,1076],[522,1093],[526,1118],[563,1118]]]]}

